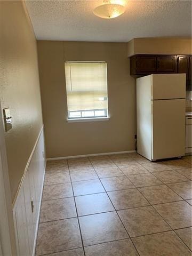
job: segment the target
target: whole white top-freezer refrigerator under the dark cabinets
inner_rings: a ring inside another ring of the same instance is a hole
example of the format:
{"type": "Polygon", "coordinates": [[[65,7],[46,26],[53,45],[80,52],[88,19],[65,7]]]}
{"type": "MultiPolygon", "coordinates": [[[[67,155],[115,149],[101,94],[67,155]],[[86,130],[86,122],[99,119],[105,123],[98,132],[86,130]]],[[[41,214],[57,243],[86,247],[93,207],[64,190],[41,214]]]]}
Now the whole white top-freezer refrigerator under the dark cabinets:
{"type": "Polygon", "coordinates": [[[137,151],[150,161],[185,155],[186,74],[137,78],[137,151]]]}

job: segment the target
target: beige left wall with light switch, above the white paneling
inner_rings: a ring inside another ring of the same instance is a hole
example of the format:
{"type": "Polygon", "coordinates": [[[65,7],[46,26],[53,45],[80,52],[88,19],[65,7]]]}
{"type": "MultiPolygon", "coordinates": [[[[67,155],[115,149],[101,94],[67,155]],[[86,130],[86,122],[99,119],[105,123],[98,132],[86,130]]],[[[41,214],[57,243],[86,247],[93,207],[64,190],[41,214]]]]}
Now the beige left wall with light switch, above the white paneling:
{"type": "Polygon", "coordinates": [[[12,199],[42,127],[36,38],[21,1],[0,1],[0,100],[13,128],[5,133],[12,199]]]}

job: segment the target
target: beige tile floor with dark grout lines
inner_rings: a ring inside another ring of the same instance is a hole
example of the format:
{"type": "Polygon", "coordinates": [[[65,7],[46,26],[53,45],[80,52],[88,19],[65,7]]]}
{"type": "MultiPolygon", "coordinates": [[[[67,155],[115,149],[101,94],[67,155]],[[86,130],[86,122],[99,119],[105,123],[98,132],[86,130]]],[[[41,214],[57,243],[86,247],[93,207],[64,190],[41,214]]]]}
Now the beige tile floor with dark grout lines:
{"type": "Polygon", "coordinates": [[[191,157],[49,161],[36,256],[190,256],[191,157]]]}

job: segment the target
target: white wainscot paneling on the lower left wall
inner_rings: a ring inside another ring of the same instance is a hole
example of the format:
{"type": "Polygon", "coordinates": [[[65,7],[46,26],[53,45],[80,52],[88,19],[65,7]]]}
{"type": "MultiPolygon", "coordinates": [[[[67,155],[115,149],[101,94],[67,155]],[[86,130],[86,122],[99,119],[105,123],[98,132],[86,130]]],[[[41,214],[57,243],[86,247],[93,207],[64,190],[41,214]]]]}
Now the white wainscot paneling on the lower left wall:
{"type": "Polygon", "coordinates": [[[35,255],[39,211],[45,173],[45,147],[43,129],[39,133],[35,147],[27,164],[13,206],[15,236],[18,256],[35,255]],[[31,209],[34,202],[34,210],[31,209]]]}

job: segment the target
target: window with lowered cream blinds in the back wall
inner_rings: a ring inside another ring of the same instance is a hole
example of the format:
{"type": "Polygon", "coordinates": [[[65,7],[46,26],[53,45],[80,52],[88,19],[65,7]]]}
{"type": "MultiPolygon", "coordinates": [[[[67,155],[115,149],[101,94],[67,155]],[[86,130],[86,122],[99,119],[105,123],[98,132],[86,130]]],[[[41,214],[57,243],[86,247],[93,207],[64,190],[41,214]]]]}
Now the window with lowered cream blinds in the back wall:
{"type": "Polygon", "coordinates": [[[68,118],[108,116],[107,63],[65,62],[68,118]]]}

